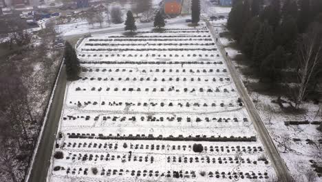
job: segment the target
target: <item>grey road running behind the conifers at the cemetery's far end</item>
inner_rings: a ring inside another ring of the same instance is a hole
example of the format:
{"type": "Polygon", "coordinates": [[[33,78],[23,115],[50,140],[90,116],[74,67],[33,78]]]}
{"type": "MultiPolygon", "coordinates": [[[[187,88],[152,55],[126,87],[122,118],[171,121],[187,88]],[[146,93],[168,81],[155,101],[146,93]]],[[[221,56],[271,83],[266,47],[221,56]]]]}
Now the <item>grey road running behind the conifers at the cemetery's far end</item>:
{"type": "MultiPolygon", "coordinates": [[[[179,23],[184,23],[186,22],[186,19],[178,19],[178,20],[173,20],[173,21],[169,21],[167,22],[167,26],[170,25],[175,25],[175,24],[179,24],[179,23]]],[[[142,28],[153,28],[153,22],[151,23],[138,23],[137,25],[138,29],[142,29],[142,28]]],[[[93,32],[87,32],[87,33],[79,33],[79,34],[72,34],[72,35],[67,35],[67,36],[63,36],[64,39],[71,39],[73,37],[82,37],[86,34],[109,34],[109,33],[114,33],[114,32],[124,32],[124,27],[118,27],[118,28],[109,28],[107,30],[94,30],[93,32]]]]}

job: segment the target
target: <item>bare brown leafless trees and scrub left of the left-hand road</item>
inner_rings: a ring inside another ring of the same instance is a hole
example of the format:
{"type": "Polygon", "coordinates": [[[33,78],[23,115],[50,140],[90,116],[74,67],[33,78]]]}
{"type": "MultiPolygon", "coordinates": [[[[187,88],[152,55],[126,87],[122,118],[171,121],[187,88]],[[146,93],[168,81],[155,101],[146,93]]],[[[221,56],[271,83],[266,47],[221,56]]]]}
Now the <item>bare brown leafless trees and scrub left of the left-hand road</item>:
{"type": "Polygon", "coordinates": [[[1,43],[8,54],[0,66],[0,181],[25,179],[61,62],[55,37],[48,23],[37,35],[17,29],[1,43]]]}

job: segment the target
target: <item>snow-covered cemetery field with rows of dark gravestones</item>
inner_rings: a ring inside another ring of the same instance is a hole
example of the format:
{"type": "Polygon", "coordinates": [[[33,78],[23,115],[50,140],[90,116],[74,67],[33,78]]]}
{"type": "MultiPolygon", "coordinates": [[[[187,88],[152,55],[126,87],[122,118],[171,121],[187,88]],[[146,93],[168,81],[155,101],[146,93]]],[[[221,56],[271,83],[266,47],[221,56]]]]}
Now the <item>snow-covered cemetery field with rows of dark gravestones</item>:
{"type": "Polygon", "coordinates": [[[54,150],[63,159],[54,159],[50,181],[266,181],[275,175],[202,26],[83,40],[81,79],[67,83],[54,150]],[[193,152],[195,143],[204,150],[193,152]]]}

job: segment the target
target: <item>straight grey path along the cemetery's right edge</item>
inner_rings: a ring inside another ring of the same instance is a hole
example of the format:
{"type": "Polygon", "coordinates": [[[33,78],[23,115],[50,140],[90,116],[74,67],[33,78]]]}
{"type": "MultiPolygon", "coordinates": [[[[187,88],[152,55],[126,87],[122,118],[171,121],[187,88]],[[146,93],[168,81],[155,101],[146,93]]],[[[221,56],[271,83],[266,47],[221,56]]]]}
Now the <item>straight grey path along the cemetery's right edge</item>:
{"type": "MultiPolygon", "coordinates": [[[[206,20],[205,20],[206,21],[206,20]]],[[[233,81],[236,84],[237,90],[241,96],[241,99],[243,99],[244,104],[248,110],[248,114],[250,115],[250,118],[252,119],[255,130],[257,130],[257,133],[259,134],[259,137],[261,138],[261,142],[263,143],[266,153],[270,157],[270,161],[272,162],[273,167],[275,168],[275,172],[277,173],[277,176],[279,178],[279,181],[283,182],[290,182],[292,181],[292,177],[290,176],[290,172],[288,168],[286,167],[286,164],[284,163],[283,159],[281,159],[281,156],[279,155],[279,152],[277,151],[277,148],[275,147],[272,139],[270,138],[270,134],[266,130],[266,127],[261,120],[261,117],[259,117],[259,114],[255,108],[255,105],[250,99],[250,96],[248,95],[248,92],[246,88],[244,87],[244,83],[242,83],[239,74],[237,73],[237,70],[235,69],[235,66],[233,65],[233,62],[231,61],[230,57],[226,56],[226,50],[224,49],[224,46],[219,40],[219,37],[215,33],[215,30],[211,23],[206,21],[206,25],[208,26],[211,34],[215,39],[218,39],[216,42],[217,47],[219,48],[219,51],[222,53],[224,59],[226,60],[226,64],[228,66],[228,69],[230,71],[231,77],[233,78],[233,81]]]]}

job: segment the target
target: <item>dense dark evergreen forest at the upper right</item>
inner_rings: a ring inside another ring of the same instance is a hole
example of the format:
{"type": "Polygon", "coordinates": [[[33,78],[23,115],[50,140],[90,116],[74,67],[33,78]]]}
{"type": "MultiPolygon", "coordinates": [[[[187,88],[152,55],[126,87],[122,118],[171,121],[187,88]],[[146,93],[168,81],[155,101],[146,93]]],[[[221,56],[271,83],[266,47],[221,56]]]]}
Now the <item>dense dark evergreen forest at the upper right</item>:
{"type": "Polygon", "coordinates": [[[322,1],[235,0],[227,28],[251,60],[260,79],[284,80],[283,72],[297,73],[292,100],[299,107],[321,77],[322,1]]]}

